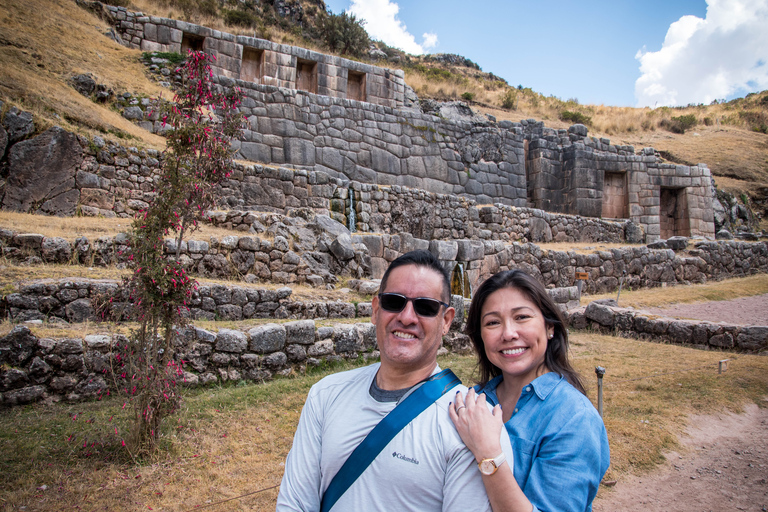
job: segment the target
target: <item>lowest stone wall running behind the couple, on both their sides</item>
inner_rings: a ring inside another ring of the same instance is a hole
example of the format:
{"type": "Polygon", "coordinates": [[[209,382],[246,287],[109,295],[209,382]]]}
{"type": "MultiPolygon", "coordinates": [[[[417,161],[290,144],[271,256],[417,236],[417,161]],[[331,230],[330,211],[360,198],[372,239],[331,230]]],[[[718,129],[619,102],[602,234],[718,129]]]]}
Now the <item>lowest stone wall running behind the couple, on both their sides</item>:
{"type": "MultiPolygon", "coordinates": [[[[555,295],[562,299],[571,293],[562,290],[555,295]]],[[[661,318],[597,302],[571,309],[567,316],[569,327],[575,329],[592,328],[700,348],[749,353],[768,349],[768,327],[661,318]]],[[[186,361],[184,382],[196,386],[230,380],[262,382],[322,361],[360,355],[375,358],[375,336],[373,324],[367,322],[317,327],[314,320],[298,320],[261,324],[246,332],[220,329],[214,333],[189,326],[179,330],[176,346],[178,358],[186,361]]],[[[100,398],[112,387],[112,349],[126,341],[119,334],[37,338],[29,327],[15,326],[0,337],[0,404],[100,398]]],[[[456,330],[445,336],[441,348],[443,353],[471,350],[469,338],[456,330]]]]}

